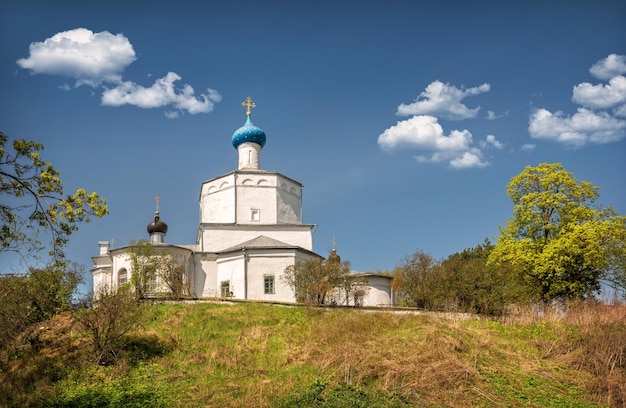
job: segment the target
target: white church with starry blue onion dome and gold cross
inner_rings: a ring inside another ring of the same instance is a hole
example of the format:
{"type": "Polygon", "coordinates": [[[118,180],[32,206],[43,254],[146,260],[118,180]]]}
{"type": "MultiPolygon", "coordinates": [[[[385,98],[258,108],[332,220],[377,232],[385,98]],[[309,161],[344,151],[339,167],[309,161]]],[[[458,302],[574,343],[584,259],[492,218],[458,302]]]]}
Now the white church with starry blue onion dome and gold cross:
{"type": "MultiPolygon", "coordinates": [[[[302,221],[303,186],[283,174],[260,168],[265,132],[251,120],[256,107],[248,97],[242,106],[246,122],[232,136],[238,152],[237,170],[200,186],[200,220],[195,244],[165,242],[168,226],[157,211],[148,224],[149,242],[161,255],[182,268],[187,295],[192,298],[232,298],[295,302],[281,276],[285,269],[309,259],[323,260],[313,251],[314,224],[302,221]]],[[[94,296],[116,290],[132,276],[132,247],[111,248],[99,242],[92,257],[94,296]]],[[[336,255],[333,249],[333,254],[336,255]]],[[[367,281],[366,306],[393,304],[391,278],[358,274],[367,281]]],[[[158,279],[155,293],[167,288],[158,279]]]]}

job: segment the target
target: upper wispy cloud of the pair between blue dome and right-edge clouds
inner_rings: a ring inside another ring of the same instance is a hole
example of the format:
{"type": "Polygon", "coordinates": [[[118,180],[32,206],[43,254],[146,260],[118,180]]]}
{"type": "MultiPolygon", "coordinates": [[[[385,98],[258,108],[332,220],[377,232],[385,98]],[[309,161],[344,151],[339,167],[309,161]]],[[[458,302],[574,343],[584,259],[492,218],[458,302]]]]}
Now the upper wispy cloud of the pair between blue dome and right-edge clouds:
{"type": "Polygon", "coordinates": [[[461,101],[467,96],[488,92],[489,89],[490,85],[486,83],[474,88],[459,89],[441,81],[434,81],[426,87],[415,102],[398,106],[396,114],[400,116],[433,115],[452,120],[475,118],[480,107],[470,109],[461,101]]]}

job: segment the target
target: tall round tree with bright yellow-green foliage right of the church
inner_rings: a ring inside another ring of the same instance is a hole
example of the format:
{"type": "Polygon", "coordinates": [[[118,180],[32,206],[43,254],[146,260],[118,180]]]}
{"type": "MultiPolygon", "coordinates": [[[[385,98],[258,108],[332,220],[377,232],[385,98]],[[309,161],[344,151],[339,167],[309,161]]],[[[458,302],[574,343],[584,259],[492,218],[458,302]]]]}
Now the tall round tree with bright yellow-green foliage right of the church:
{"type": "Polygon", "coordinates": [[[489,263],[521,268],[544,301],[583,298],[602,279],[620,282],[626,259],[626,217],[594,207],[598,187],[560,163],[527,166],[507,185],[513,218],[489,263]]]}

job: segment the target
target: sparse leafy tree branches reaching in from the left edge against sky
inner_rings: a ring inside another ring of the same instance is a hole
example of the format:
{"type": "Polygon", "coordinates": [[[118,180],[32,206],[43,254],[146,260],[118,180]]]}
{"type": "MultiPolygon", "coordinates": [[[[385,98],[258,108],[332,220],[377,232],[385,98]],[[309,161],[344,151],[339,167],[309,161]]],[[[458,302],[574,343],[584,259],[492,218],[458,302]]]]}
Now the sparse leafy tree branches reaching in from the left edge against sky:
{"type": "Polygon", "coordinates": [[[62,261],[77,224],[107,214],[106,200],[82,188],[64,196],[58,170],[41,159],[42,144],[16,139],[11,149],[8,141],[0,132],[0,252],[39,251],[43,230],[50,235],[49,255],[62,261]]]}

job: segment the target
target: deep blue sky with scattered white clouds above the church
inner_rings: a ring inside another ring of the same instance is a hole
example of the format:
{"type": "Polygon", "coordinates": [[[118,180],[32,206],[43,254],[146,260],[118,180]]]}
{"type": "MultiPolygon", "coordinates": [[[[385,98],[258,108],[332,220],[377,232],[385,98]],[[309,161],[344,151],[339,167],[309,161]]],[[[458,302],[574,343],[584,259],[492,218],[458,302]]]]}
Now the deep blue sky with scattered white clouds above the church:
{"type": "Polygon", "coordinates": [[[304,184],[314,249],[334,236],[356,270],[493,239],[526,165],[626,214],[623,1],[3,1],[0,58],[0,130],[108,201],[67,250],[88,269],[147,238],[157,195],[166,241],[194,243],[247,96],[261,168],[304,184]]]}

